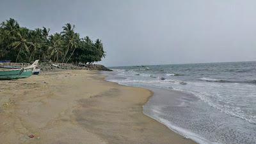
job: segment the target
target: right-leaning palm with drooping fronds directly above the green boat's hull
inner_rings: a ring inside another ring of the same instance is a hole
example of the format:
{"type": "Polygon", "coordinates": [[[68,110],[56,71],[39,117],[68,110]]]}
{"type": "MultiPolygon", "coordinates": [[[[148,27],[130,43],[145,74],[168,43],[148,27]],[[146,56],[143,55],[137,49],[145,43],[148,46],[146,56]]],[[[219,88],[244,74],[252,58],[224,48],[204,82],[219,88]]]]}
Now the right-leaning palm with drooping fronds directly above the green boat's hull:
{"type": "Polygon", "coordinates": [[[30,46],[34,46],[34,44],[26,40],[26,38],[24,36],[24,32],[21,32],[21,34],[20,34],[20,32],[18,32],[17,37],[15,38],[15,41],[12,43],[13,48],[19,48],[19,53],[17,55],[16,62],[19,58],[20,51],[26,50],[26,52],[29,53],[30,46]]]}

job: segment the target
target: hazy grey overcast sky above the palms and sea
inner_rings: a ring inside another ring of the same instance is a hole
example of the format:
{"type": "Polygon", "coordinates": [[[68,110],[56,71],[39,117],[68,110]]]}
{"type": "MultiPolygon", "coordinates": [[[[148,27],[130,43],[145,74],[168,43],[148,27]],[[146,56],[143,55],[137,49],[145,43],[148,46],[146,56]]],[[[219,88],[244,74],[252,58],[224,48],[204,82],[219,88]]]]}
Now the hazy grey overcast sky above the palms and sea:
{"type": "Polygon", "coordinates": [[[1,0],[0,21],[99,38],[101,64],[256,61],[255,0],[1,0]]]}

